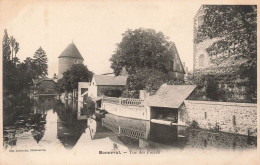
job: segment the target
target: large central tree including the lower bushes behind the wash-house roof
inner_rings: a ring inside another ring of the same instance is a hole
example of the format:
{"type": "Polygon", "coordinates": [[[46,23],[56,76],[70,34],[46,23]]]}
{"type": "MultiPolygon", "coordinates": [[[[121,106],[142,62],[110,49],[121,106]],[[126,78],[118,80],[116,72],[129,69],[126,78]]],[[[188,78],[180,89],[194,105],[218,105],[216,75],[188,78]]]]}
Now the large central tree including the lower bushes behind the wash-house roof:
{"type": "Polygon", "coordinates": [[[138,91],[144,89],[154,94],[167,82],[183,84],[166,68],[166,62],[172,57],[167,49],[170,44],[162,32],[153,29],[129,29],[123,34],[110,59],[115,75],[121,74],[122,70],[129,75],[123,97],[136,98],[138,91]]]}

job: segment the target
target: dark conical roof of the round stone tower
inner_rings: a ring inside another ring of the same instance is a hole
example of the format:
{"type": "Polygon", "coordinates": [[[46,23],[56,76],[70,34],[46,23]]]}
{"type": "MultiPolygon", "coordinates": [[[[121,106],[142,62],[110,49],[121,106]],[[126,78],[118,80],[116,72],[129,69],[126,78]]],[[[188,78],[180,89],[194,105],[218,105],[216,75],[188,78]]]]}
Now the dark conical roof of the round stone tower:
{"type": "Polygon", "coordinates": [[[62,57],[78,58],[84,60],[73,42],[67,46],[67,48],[60,54],[58,58],[62,57]]]}

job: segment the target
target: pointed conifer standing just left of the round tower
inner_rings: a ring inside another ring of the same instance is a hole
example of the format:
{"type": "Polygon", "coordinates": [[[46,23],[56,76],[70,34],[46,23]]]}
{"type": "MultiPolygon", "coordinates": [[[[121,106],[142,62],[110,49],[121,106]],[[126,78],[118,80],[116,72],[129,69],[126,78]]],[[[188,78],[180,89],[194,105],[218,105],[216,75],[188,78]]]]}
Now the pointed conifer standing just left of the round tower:
{"type": "Polygon", "coordinates": [[[36,66],[35,72],[36,72],[36,77],[45,77],[48,75],[48,59],[45,51],[40,47],[33,55],[33,62],[36,66]]]}

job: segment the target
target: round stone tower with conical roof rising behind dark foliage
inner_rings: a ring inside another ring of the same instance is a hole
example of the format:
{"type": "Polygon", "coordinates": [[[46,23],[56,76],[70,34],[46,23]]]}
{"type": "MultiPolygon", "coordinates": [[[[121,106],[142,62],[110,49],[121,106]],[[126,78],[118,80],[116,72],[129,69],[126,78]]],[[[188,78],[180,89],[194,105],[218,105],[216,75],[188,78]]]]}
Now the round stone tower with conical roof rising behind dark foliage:
{"type": "Polygon", "coordinates": [[[72,42],[67,48],[60,54],[59,67],[58,67],[58,78],[62,78],[63,73],[69,70],[73,64],[83,64],[83,57],[79,50],[72,42]]]}

